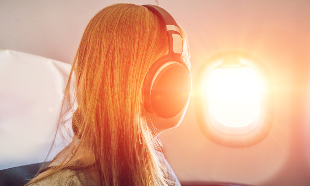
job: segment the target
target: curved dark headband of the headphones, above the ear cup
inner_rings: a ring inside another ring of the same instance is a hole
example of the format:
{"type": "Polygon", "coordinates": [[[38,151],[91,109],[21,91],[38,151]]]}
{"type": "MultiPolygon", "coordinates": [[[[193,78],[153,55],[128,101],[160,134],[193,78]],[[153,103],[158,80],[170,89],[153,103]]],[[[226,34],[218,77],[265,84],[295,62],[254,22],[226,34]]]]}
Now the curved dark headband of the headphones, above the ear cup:
{"type": "Polygon", "coordinates": [[[178,24],[173,17],[163,8],[156,5],[142,5],[152,11],[166,25],[169,54],[180,55],[183,53],[183,42],[178,24]]]}

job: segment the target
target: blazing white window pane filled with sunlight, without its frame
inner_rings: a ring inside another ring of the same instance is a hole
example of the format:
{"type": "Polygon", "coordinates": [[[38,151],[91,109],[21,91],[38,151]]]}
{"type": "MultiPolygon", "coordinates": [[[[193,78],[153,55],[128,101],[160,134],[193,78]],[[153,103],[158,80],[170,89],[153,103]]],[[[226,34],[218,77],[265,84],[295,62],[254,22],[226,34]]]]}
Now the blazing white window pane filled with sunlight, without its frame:
{"type": "Polygon", "coordinates": [[[222,125],[248,126],[259,115],[261,87],[253,69],[214,69],[206,83],[209,111],[222,125]]]}

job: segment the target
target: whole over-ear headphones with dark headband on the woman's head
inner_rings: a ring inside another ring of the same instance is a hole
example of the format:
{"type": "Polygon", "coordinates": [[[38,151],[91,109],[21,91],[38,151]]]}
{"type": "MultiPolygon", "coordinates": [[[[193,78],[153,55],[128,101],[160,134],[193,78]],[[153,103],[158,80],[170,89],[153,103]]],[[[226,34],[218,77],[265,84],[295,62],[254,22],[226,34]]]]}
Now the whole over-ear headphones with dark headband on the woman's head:
{"type": "Polygon", "coordinates": [[[176,116],[185,107],[192,89],[192,78],[182,58],[183,42],[178,25],[163,8],[142,5],[166,25],[169,53],[155,61],[144,80],[144,108],[162,118],[176,116]]]}

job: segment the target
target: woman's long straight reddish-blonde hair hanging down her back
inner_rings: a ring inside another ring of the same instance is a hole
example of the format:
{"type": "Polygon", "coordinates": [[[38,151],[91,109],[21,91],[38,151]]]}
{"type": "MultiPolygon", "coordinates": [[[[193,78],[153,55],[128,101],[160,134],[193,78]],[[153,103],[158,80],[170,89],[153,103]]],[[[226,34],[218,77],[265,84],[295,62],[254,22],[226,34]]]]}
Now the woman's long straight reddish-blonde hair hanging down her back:
{"type": "Polygon", "coordinates": [[[84,125],[78,131],[106,185],[160,181],[142,92],[148,67],[168,50],[164,29],[146,8],[116,4],[95,15],[83,34],[73,64],[84,125]]]}

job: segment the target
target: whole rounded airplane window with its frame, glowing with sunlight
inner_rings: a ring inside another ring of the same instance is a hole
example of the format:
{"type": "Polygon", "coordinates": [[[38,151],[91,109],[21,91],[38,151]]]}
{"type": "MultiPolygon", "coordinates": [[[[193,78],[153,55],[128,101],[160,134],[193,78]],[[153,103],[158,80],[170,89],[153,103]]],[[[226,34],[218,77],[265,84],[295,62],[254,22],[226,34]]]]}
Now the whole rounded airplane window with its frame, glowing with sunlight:
{"type": "Polygon", "coordinates": [[[246,53],[225,52],[207,60],[197,75],[197,119],[209,139],[228,146],[248,146],[268,134],[273,86],[260,60],[246,53]]]}

